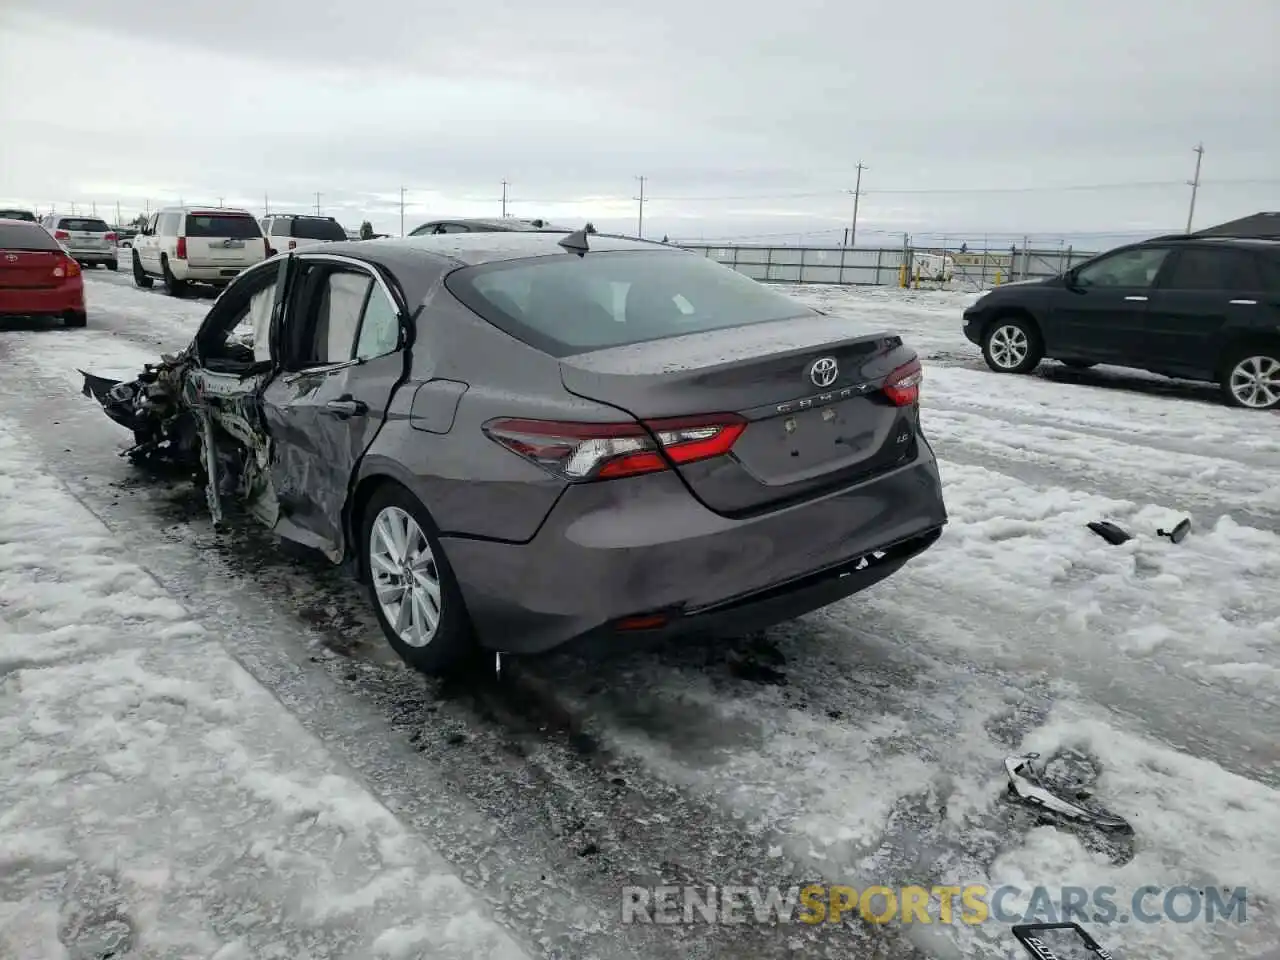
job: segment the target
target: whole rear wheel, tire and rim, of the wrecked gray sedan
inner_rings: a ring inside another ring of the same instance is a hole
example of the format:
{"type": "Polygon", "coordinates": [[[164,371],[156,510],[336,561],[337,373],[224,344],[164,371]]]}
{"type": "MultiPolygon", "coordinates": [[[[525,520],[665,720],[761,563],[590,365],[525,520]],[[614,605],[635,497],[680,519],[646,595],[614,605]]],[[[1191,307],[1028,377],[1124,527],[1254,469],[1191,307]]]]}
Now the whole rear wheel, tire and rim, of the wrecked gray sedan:
{"type": "Polygon", "coordinates": [[[475,650],[471,621],[426,508],[389,483],[365,506],[358,535],[369,599],[392,649],[422,673],[462,666],[475,650]]]}

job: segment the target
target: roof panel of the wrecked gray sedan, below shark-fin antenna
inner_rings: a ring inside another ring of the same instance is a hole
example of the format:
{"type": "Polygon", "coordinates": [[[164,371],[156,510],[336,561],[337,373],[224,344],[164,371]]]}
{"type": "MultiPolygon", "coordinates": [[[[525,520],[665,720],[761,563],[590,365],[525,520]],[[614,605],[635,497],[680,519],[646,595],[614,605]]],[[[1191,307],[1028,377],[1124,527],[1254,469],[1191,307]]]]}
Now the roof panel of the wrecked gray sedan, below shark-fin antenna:
{"type": "MultiPolygon", "coordinates": [[[[436,233],[425,237],[393,237],[376,241],[326,243],[324,252],[355,256],[361,260],[404,262],[415,256],[452,260],[458,265],[489,264],[499,260],[564,255],[559,242],[570,230],[495,230],[493,233],[436,233]]],[[[655,241],[591,233],[586,237],[590,251],[673,250],[655,241]]],[[[319,251],[316,251],[319,252],[319,251]]]]}

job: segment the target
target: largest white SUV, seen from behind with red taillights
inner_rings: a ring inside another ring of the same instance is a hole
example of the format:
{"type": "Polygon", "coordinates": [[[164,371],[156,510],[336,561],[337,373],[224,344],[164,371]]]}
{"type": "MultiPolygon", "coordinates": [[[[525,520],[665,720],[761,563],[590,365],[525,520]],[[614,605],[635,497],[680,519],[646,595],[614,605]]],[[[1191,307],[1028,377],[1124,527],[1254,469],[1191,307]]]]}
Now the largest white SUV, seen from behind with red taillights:
{"type": "Polygon", "coordinates": [[[188,283],[225,287],[268,257],[269,246],[247,210],[170,206],[157,210],[133,238],[133,282],[156,276],[180,297],[188,283]]]}

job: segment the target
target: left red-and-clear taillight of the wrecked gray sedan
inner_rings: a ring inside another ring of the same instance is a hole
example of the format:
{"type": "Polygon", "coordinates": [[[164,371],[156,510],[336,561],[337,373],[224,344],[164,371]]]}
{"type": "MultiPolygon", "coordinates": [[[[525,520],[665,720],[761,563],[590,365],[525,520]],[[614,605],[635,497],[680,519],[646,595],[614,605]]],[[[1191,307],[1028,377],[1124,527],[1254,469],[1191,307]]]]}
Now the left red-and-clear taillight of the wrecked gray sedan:
{"type": "Polygon", "coordinates": [[[653,474],[730,452],[746,429],[732,413],[644,424],[490,420],[485,434],[525,460],[573,483],[653,474]]]}

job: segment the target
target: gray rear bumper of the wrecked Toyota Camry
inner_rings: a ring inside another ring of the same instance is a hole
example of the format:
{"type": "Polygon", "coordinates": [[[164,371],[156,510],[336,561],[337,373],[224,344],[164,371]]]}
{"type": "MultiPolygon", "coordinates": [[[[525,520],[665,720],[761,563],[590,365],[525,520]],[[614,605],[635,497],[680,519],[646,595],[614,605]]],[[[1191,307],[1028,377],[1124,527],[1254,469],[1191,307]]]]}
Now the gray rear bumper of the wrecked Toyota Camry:
{"type": "Polygon", "coordinates": [[[493,649],[628,643],[636,634],[618,621],[649,614],[664,632],[756,630],[883,580],[937,539],[946,508],[920,451],[859,486],[746,520],[707,509],[673,474],[572,486],[527,544],[447,536],[444,550],[493,649]]]}

